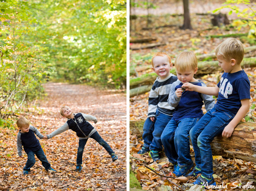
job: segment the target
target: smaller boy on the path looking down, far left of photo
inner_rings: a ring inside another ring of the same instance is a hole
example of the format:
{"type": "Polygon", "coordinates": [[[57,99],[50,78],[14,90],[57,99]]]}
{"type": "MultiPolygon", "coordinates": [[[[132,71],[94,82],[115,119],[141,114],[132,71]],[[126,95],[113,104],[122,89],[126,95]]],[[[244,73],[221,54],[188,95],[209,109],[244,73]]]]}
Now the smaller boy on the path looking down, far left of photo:
{"type": "Polygon", "coordinates": [[[20,129],[17,136],[18,155],[19,157],[22,157],[21,151],[23,145],[24,151],[28,156],[27,163],[23,168],[23,175],[29,174],[30,168],[36,163],[35,154],[42,162],[42,165],[45,167],[46,171],[57,172],[51,167],[50,163],[48,163],[39,140],[36,139],[35,133],[40,139],[43,139],[44,136],[35,127],[29,125],[29,121],[24,117],[19,118],[16,124],[20,129]]]}

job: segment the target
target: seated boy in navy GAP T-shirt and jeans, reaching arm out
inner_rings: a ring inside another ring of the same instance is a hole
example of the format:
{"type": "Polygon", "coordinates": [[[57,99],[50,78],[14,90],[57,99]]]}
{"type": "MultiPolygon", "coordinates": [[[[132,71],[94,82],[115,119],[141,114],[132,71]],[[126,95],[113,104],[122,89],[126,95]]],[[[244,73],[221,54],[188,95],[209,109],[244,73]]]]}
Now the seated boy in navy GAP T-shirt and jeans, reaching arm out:
{"type": "Polygon", "coordinates": [[[198,176],[193,184],[216,185],[213,178],[212,151],[210,143],[217,135],[230,137],[236,125],[248,112],[250,81],[241,67],[244,48],[240,40],[228,38],[216,49],[219,66],[224,70],[216,87],[199,87],[183,84],[187,91],[218,95],[217,103],[190,130],[195,151],[195,168],[188,176],[198,176]]]}

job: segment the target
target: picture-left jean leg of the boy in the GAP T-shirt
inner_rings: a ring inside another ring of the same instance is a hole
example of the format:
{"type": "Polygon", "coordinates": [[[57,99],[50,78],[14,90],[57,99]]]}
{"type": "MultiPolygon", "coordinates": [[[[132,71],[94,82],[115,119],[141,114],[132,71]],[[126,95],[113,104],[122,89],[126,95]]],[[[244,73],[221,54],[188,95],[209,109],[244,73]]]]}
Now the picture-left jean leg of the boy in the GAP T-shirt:
{"type": "Polygon", "coordinates": [[[195,126],[189,131],[189,136],[195,152],[195,165],[199,169],[201,169],[201,155],[197,146],[197,138],[204,127],[209,123],[209,121],[211,121],[212,112],[215,112],[215,108],[212,108],[210,111],[204,114],[203,117],[201,117],[201,119],[199,119],[195,126]]]}

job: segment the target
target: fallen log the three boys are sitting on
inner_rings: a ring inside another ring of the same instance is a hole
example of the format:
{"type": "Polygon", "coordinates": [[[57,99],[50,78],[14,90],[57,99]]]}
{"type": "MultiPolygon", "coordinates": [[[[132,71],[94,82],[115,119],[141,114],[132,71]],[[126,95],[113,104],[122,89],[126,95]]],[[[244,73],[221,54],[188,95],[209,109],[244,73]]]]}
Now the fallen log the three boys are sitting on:
{"type": "MultiPolygon", "coordinates": [[[[130,132],[141,137],[144,122],[144,120],[130,121],[130,132]]],[[[231,137],[225,138],[221,135],[215,137],[211,148],[212,155],[236,157],[256,163],[256,123],[240,122],[231,137]]]]}

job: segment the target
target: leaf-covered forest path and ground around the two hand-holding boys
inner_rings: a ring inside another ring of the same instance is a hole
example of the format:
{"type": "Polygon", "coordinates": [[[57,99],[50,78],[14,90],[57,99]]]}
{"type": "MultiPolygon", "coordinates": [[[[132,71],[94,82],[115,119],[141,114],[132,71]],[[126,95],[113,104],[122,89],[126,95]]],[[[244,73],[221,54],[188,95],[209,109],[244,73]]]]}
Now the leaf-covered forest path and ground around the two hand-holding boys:
{"type": "MultiPolygon", "coordinates": [[[[36,158],[30,174],[23,176],[27,161],[17,155],[18,130],[0,129],[0,190],[126,190],[126,95],[118,91],[99,90],[86,85],[48,83],[48,96],[36,106],[18,114],[43,135],[66,122],[60,107],[70,106],[98,119],[93,126],[118,156],[112,162],[108,152],[89,139],[83,152],[83,170],[75,172],[78,137],[67,130],[52,139],[40,139],[45,155],[57,173],[48,173],[36,158]]],[[[15,124],[16,121],[14,121],[15,124]]]]}

